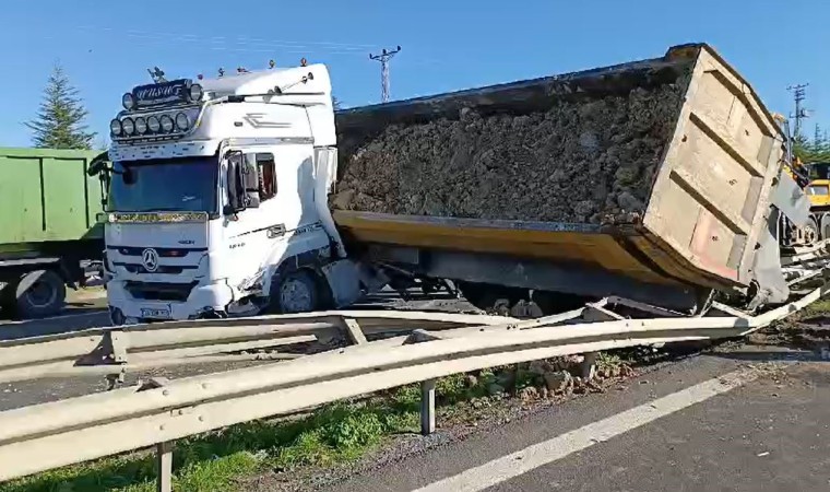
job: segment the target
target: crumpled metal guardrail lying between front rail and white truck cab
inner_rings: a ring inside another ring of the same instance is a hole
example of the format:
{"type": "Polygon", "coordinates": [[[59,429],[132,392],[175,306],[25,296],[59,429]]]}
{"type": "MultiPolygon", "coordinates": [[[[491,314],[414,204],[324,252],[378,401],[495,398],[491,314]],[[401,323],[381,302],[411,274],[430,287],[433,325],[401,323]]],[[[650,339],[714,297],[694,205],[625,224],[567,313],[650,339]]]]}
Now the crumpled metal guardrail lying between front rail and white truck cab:
{"type": "Polygon", "coordinates": [[[0,341],[0,383],[91,374],[105,375],[117,382],[122,380],[129,371],[147,367],[295,359],[300,354],[280,351],[280,347],[295,343],[318,341],[328,344],[339,338],[356,343],[379,331],[408,332],[416,328],[448,329],[503,323],[506,318],[501,316],[333,311],[94,328],[0,341]],[[270,351],[254,352],[262,349],[270,351]]]}

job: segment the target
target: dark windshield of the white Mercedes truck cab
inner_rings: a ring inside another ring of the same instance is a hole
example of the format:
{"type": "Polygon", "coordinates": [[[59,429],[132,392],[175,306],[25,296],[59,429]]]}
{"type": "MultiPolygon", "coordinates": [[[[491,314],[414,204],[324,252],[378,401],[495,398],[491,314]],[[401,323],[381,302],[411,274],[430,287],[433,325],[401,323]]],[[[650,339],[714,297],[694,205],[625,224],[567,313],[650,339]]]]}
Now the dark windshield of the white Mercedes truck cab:
{"type": "Polygon", "coordinates": [[[214,213],[218,168],[215,156],[116,162],[107,211],[214,213]]]}

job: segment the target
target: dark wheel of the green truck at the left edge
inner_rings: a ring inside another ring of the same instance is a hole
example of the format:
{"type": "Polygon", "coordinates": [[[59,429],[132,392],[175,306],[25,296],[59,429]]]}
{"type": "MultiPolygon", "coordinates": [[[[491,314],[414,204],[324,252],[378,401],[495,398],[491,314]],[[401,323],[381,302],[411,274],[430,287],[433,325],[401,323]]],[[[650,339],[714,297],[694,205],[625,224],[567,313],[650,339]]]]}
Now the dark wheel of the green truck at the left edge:
{"type": "Polygon", "coordinates": [[[4,296],[3,304],[11,308],[12,316],[19,319],[43,318],[54,316],[63,308],[67,285],[63,279],[51,270],[35,270],[7,286],[4,296]],[[24,290],[23,281],[32,276],[37,276],[37,280],[24,290]]]}

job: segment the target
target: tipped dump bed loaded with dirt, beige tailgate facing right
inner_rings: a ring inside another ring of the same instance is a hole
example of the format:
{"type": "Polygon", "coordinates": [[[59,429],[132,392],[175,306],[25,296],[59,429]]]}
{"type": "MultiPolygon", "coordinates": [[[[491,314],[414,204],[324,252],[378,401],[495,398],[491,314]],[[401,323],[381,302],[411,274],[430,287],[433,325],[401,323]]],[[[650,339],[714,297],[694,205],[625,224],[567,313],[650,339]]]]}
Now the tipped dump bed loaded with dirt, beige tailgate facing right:
{"type": "Polygon", "coordinates": [[[331,203],[353,241],[652,284],[748,285],[783,153],[751,87],[706,45],[336,118],[331,203]]]}

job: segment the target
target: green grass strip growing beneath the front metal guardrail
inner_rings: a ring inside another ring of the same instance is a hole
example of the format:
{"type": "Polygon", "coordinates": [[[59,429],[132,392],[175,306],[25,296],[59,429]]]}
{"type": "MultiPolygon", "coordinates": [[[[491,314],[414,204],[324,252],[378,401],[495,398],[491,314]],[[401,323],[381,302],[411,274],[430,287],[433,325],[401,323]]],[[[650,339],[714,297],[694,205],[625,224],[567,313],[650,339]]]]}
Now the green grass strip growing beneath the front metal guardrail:
{"type": "MultiPolygon", "coordinates": [[[[259,471],[358,458],[388,435],[417,431],[417,412],[400,403],[410,403],[410,393],[401,388],[388,400],[336,403],[297,420],[250,422],[180,440],[173,455],[175,489],[234,491],[239,478],[259,471]]],[[[0,492],[152,492],[155,478],[154,456],[141,453],[2,483],[0,492]]]]}

